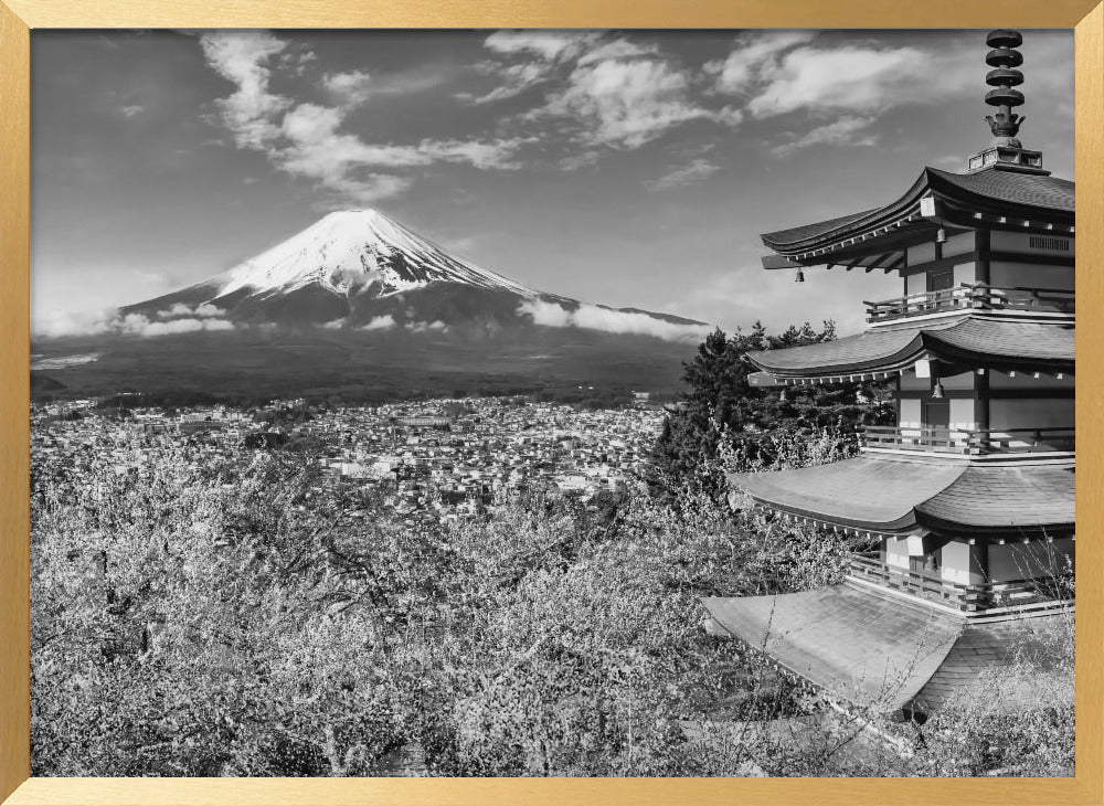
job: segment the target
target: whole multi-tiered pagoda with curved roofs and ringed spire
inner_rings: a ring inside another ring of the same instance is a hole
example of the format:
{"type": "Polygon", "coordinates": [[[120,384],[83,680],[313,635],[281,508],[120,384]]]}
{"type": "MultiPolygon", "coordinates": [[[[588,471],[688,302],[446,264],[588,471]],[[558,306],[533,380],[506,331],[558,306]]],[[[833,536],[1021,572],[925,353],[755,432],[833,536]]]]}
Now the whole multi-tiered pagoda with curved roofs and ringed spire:
{"type": "Polygon", "coordinates": [[[764,268],[892,272],[902,296],[859,335],[750,353],[753,380],[888,382],[896,424],[856,458],[729,477],[734,506],[868,550],[838,585],[703,600],[708,625],[868,712],[923,718],[1013,647],[1045,657],[1074,606],[1074,183],[1017,139],[1022,38],[986,42],[992,139],[964,171],[762,236],[764,268]]]}

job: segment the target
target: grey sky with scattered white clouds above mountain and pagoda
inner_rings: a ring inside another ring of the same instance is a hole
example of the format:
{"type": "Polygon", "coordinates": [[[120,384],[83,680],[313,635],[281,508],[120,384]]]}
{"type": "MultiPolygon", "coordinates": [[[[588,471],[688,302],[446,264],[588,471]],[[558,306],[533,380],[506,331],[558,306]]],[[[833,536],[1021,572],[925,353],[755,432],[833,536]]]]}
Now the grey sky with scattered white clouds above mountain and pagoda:
{"type": "MultiPolygon", "coordinates": [[[[1073,178],[1073,33],[1025,31],[1020,139],[1073,178]]],[[[760,233],[990,138],[984,31],[35,31],[32,331],[79,332],[333,210],[534,289],[726,331],[898,296],[760,233]]]]}

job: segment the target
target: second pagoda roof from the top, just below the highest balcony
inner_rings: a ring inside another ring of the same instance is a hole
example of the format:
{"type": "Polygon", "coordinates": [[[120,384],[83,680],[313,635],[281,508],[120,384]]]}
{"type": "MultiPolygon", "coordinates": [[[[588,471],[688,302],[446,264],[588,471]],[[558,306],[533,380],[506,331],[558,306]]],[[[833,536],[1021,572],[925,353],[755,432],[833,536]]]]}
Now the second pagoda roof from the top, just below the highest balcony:
{"type": "Polygon", "coordinates": [[[1072,372],[1072,324],[1037,324],[970,315],[868,330],[831,341],[747,353],[776,379],[825,379],[901,370],[922,358],[997,370],[1072,372]]]}

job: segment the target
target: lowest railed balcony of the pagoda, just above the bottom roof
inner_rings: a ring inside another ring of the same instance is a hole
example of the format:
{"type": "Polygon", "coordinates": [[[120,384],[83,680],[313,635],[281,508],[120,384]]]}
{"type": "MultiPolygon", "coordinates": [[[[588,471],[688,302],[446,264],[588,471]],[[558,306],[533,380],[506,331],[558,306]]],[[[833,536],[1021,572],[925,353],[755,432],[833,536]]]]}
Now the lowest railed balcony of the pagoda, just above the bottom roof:
{"type": "Polygon", "coordinates": [[[917,571],[885,563],[877,552],[852,554],[849,580],[883,587],[924,603],[958,611],[967,618],[1064,607],[1074,598],[1072,574],[964,584],[935,571],[917,571]]]}

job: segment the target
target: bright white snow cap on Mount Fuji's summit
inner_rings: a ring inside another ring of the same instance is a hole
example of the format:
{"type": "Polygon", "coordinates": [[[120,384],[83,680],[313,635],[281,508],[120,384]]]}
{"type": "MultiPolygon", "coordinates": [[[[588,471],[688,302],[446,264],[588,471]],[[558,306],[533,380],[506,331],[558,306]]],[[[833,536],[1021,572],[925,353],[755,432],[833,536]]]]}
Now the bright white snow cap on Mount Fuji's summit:
{"type": "Polygon", "coordinates": [[[332,212],[300,233],[209,280],[214,298],[240,290],[287,293],[317,284],[350,296],[375,286],[383,295],[435,280],[500,288],[533,297],[524,286],[449,254],[376,210],[332,212]]]}

